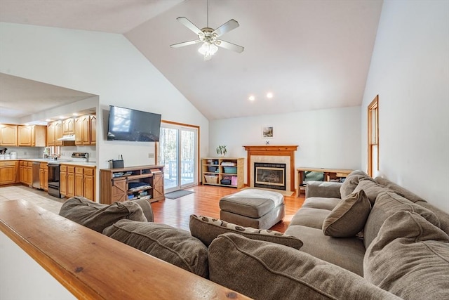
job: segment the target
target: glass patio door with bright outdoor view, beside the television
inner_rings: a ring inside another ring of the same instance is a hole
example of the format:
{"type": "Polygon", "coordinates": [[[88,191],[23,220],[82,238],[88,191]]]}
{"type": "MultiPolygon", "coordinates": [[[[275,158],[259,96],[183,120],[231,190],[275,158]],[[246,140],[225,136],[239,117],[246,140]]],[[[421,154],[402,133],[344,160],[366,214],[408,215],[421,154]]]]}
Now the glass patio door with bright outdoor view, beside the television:
{"type": "Polygon", "coordinates": [[[165,193],[198,184],[197,126],[162,122],[158,162],[165,166],[165,193]]]}

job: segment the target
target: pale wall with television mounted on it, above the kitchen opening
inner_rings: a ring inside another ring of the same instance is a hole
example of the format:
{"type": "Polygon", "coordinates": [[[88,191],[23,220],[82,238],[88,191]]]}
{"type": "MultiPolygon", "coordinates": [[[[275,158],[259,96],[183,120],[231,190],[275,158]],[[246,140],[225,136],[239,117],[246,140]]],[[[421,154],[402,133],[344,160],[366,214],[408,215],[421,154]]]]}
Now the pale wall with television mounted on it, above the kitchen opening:
{"type": "Polygon", "coordinates": [[[200,126],[200,155],[207,153],[206,117],[122,34],[1,22],[0,40],[0,72],[99,96],[98,169],[109,167],[107,160],[120,154],[126,166],[154,162],[148,158],[154,143],[105,141],[108,105],[200,126]]]}

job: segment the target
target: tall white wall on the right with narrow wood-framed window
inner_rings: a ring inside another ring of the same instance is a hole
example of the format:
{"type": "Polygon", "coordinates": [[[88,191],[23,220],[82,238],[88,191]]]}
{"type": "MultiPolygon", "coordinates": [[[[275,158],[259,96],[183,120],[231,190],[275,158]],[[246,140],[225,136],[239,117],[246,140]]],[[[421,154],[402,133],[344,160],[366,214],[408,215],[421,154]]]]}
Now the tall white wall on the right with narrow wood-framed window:
{"type": "Polygon", "coordinates": [[[380,174],[449,211],[449,1],[384,1],[361,110],[379,94],[380,174]]]}

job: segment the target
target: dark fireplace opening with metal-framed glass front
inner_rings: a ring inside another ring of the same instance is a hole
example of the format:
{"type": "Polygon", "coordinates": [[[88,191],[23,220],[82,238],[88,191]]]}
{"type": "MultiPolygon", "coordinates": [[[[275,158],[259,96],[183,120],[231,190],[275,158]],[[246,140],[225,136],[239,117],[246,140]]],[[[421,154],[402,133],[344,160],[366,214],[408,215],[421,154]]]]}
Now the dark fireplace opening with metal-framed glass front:
{"type": "Polygon", "coordinates": [[[286,190],[286,164],[255,162],[254,187],[286,190]]]}

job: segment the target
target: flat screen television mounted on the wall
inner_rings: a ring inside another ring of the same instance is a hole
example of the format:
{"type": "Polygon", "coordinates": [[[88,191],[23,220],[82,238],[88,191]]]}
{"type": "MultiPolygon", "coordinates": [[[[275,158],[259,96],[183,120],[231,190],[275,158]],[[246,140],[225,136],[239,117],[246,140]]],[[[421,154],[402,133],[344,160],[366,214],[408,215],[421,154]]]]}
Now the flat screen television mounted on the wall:
{"type": "Polygon", "coordinates": [[[159,142],[161,115],[109,105],[107,141],[159,142]]]}

